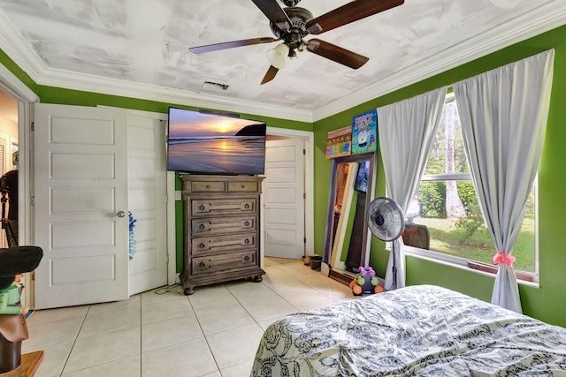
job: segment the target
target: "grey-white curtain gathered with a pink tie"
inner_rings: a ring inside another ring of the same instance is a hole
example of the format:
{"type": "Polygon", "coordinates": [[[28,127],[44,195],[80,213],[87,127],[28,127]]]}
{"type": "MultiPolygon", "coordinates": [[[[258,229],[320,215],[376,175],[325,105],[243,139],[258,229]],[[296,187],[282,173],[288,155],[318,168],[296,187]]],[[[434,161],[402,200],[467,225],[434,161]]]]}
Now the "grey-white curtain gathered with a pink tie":
{"type": "Polygon", "coordinates": [[[511,255],[539,167],[547,127],[555,50],[454,85],[478,201],[499,272],[492,303],[522,313],[511,255]]]}

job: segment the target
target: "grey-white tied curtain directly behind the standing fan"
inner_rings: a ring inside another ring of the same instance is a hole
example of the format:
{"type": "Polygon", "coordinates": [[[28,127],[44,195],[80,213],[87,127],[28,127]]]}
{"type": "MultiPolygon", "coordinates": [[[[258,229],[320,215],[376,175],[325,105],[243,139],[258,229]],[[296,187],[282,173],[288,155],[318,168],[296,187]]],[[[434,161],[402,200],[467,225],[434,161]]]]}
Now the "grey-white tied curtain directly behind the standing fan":
{"type": "MultiPolygon", "coordinates": [[[[386,173],[387,195],[407,212],[423,176],[428,155],[442,117],[446,87],[395,102],[378,109],[379,148],[386,173]]],[[[405,286],[405,247],[402,238],[394,241],[387,264],[387,290],[405,286]]]]}

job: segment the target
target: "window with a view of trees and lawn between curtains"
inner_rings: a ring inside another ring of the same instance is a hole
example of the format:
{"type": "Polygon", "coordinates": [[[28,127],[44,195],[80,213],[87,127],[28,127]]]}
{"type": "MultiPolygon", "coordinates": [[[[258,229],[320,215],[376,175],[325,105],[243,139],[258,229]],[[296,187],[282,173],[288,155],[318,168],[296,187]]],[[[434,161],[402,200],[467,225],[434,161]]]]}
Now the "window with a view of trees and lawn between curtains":
{"type": "MultiPolygon", "coordinates": [[[[535,187],[536,180],[524,209],[521,234],[513,249],[514,268],[527,273],[517,273],[517,276],[525,280],[533,280],[538,274],[535,187]]],[[[496,270],[492,264],[495,248],[471,180],[453,94],[447,95],[424,176],[406,216],[408,224],[425,227],[430,235],[430,252],[412,250],[413,253],[486,271],[496,270]]],[[[409,241],[406,245],[417,244],[409,241]]]]}

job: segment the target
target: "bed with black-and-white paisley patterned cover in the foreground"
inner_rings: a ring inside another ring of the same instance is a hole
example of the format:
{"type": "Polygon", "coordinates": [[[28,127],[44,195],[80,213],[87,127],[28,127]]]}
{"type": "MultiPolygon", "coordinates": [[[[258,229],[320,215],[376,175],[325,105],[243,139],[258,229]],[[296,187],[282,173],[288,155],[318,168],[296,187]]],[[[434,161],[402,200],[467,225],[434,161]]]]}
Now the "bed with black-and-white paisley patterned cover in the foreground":
{"type": "Polygon", "coordinates": [[[274,322],[251,376],[566,375],[566,329],[419,285],[274,322]]]}

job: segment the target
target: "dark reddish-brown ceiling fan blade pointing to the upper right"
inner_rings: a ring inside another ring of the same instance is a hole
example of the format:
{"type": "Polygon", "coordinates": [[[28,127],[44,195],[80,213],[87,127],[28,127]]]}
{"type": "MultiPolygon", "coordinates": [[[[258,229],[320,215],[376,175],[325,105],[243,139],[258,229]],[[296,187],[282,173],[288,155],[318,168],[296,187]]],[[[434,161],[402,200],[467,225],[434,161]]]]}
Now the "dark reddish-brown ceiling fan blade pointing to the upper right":
{"type": "Polygon", "coordinates": [[[321,34],[403,3],[404,0],[356,0],[311,19],[307,22],[306,28],[310,34],[321,34]]]}

